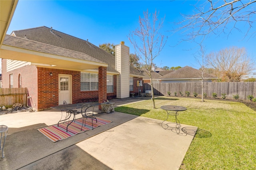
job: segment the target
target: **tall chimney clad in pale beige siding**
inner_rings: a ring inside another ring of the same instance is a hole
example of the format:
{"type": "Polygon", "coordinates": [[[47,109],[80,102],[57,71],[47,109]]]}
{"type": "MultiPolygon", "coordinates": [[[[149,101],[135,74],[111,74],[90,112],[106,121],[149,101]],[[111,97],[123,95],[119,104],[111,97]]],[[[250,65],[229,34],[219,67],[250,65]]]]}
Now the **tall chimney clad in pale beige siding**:
{"type": "Polygon", "coordinates": [[[116,45],[117,94],[119,99],[130,97],[130,57],[129,47],[116,45]]]}

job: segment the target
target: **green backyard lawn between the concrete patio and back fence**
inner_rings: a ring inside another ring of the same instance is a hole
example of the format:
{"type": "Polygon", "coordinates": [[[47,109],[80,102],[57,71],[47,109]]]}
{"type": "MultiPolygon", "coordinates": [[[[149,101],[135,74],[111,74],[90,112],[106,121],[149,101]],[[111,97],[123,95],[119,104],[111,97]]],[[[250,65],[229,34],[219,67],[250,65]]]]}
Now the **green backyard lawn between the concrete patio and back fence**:
{"type": "MultiPolygon", "coordinates": [[[[256,169],[256,111],[243,103],[194,98],[158,97],[115,108],[115,111],[165,120],[162,105],[186,107],[180,123],[198,127],[180,169],[256,169]]],[[[175,122],[175,117],[167,121],[175,122]]]]}

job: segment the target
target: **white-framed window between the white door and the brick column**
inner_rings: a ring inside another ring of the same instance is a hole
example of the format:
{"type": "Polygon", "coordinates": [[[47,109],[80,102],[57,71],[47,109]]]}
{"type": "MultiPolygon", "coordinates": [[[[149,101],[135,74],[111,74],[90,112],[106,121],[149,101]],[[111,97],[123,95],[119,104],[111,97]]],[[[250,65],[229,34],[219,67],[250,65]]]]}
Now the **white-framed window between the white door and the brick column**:
{"type": "Polygon", "coordinates": [[[98,74],[81,73],[81,91],[98,90],[98,74]]]}

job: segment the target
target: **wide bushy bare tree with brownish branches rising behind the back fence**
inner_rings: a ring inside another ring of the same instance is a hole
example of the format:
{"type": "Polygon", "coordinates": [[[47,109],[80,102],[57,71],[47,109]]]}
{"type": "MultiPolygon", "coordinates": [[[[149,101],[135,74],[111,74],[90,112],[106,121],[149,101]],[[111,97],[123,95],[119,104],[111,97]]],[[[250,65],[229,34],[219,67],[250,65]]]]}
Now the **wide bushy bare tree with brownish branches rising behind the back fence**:
{"type": "Polygon", "coordinates": [[[255,69],[255,61],[245,48],[231,47],[206,56],[207,63],[218,71],[222,81],[237,82],[255,69]]]}

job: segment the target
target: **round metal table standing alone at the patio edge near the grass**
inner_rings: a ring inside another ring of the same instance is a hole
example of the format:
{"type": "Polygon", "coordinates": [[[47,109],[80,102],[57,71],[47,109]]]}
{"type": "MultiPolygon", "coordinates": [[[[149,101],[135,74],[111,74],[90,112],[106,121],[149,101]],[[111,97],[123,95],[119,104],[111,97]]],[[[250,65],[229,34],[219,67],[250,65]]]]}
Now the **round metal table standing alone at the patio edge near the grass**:
{"type": "Polygon", "coordinates": [[[165,122],[165,121],[163,121],[162,124],[161,124],[162,128],[164,128],[164,129],[167,129],[168,127],[175,128],[176,133],[179,134],[180,133],[181,125],[180,125],[180,121],[177,119],[177,116],[179,115],[178,111],[186,111],[187,108],[186,107],[182,107],[182,106],[166,105],[166,106],[161,106],[161,109],[164,109],[166,111],[166,113],[167,113],[167,118],[165,119],[165,121],[167,121],[169,115],[175,116],[175,120],[176,120],[175,127],[171,127],[171,126],[168,125],[168,124],[175,124],[175,123],[163,124],[165,122]]]}

